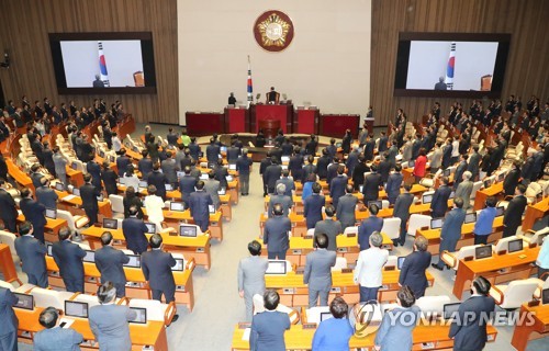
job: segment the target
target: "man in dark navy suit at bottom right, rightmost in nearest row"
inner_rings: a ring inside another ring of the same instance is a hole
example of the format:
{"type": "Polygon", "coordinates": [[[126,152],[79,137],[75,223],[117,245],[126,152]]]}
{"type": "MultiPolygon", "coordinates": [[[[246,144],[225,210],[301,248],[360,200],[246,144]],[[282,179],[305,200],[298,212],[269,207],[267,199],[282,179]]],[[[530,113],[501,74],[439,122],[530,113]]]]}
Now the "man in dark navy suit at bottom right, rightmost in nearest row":
{"type": "Polygon", "coordinates": [[[489,295],[491,284],[484,276],[471,284],[472,296],[461,303],[458,316],[450,326],[448,337],[453,339],[453,350],[483,350],[486,344],[486,322],[495,309],[495,302],[489,295]],[[458,322],[459,321],[459,322],[458,322]]]}

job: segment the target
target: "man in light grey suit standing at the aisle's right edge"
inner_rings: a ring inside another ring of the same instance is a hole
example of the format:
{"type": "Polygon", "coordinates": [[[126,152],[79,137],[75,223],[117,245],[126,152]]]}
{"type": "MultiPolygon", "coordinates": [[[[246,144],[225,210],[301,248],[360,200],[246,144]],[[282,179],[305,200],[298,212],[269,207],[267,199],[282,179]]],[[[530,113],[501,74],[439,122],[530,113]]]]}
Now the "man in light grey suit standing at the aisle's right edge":
{"type": "Polygon", "coordinates": [[[269,262],[261,258],[261,244],[254,240],[248,244],[249,257],[238,262],[238,295],[246,305],[246,320],[254,315],[254,295],[265,293],[265,272],[269,262]]]}

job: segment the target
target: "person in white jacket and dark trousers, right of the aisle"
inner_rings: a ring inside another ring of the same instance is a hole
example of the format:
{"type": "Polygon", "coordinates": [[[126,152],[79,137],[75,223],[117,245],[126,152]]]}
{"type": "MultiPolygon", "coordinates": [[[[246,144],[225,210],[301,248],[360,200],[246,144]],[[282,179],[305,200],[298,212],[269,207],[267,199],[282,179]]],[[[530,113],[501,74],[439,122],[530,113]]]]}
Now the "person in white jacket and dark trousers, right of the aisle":
{"type": "Polygon", "coordinates": [[[378,291],[383,282],[383,265],[389,258],[389,251],[381,249],[383,237],[379,231],[370,236],[370,248],[358,256],[355,268],[355,283],[360,286],[360,302],[378,299],[378,291]]]}

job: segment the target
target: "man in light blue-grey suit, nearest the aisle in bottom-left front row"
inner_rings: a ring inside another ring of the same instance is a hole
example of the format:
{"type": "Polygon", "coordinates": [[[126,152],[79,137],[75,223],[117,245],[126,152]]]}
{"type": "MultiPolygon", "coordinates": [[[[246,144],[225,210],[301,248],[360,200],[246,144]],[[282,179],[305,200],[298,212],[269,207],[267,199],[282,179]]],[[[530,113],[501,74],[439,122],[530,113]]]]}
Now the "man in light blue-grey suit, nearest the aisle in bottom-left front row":
{"type": "Polygon", "coordinates": [[[126,305],[117,305],[116,287],[111,282],[103,283],[97,293],[99,306],[89,312],[90,329],[99,342],[100,351],[131,351],[128,321],[137,317],[137,313],[126,305]]]}

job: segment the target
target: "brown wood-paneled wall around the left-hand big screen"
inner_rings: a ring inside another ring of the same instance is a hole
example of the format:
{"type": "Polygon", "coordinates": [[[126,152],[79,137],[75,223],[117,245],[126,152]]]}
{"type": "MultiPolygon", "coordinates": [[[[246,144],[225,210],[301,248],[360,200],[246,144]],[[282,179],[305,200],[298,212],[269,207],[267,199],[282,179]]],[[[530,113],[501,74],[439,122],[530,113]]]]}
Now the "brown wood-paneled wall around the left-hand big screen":
{"type": "Polygon", "coordinates": [[[48,97],[56,104],[75,100],[90,105],[93,95],[59,95],[48,33],[152,32],[156,94],[102,95],[120,100],[137,122],[178,124],[177,0],[1,0],[0,54],[10,54],[0,68],[7,101],[18,104],[48,97]]]}

